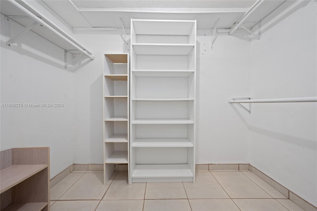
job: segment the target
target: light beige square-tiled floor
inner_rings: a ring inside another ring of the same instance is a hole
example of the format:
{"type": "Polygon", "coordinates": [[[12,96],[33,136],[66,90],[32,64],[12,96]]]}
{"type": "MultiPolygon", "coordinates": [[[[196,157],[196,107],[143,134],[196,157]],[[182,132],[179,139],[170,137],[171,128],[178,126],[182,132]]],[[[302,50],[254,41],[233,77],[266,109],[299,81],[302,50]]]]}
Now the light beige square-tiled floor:
{"type": "Polygon", "coordinates": [[[196,183],[133,183],[76,171],[51,188],[51,211],[303,211],[251,171],[199,171],[196,183]]]}

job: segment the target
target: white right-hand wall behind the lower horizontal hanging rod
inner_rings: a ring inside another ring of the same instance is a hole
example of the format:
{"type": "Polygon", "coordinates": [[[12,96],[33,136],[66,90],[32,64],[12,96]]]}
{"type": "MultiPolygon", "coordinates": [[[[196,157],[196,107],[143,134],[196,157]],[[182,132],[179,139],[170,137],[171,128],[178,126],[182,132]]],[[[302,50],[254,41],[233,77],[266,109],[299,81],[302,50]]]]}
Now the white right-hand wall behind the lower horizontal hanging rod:
{"type": "MultiPolygon", "coordinates": [[[[261,40],[251,44],[254,99],[317,96],[316,1],[282,8],[262,22],[261,40]]],[[[317,206],[316,103],[253,104],[250,154],[252,165],[317,206]]]]}

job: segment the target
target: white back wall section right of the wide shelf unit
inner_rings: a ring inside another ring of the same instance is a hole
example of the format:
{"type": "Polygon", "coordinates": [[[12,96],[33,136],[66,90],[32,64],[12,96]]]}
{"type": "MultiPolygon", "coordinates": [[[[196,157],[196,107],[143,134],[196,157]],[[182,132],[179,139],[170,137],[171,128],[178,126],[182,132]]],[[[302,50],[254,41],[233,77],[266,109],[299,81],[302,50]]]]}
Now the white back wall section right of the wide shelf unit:
{"type": "Polygon", "coordinates": [[[198,30],[196,163],[249,163],[249,114],[228,101],[249,96],[250,42],[210,42],[210,30],[198,30]]]}

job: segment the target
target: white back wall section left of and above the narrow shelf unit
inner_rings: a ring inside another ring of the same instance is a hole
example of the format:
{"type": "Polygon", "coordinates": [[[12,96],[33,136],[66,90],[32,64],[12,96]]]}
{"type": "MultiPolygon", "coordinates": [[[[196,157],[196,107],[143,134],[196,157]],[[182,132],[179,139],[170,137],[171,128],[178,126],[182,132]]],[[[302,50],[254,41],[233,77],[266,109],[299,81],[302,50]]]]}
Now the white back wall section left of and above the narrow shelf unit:
{"type": "Polygon", "coordinates": [[[103,164],[104,54],[127,52],[122,34],[122,30],[74,34],[80,44],[88,46],[95,54],[94,60],[83,60],[85,65],[76,68],[74,72],[74,163],[103,164]]]}

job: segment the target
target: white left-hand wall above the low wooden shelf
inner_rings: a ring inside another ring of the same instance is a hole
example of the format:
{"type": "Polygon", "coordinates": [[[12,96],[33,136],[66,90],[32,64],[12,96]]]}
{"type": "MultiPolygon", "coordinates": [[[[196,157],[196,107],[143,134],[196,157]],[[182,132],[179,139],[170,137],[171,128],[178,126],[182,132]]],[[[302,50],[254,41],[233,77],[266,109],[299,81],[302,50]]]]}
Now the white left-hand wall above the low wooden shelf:
{"type": "MultiPolygon", "coordinates": [[[[1,14],[1,104],[54,104],[63,107],[1,107],[1,151],[50,147],[51,178],[73,163],[73,73],[64,69],[64,51],[27,32],[5,44],[1,14]]],[[[24,27],[11,22],[14,35],[24,27]]]]}

